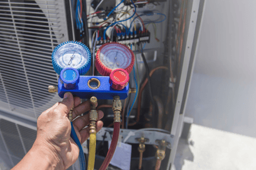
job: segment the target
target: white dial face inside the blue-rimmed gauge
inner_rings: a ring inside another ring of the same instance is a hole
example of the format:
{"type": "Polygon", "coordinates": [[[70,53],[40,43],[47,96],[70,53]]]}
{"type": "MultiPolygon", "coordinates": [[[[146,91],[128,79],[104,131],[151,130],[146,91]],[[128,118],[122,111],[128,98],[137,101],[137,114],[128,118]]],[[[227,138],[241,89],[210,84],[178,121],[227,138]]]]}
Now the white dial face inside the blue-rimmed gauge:
{"type": "Polygon", "coordinates": [[[88,52],[80,44],[68,43],[55,52],[55,61],[62,68],[81,68],[88,61],[88,52]]]}

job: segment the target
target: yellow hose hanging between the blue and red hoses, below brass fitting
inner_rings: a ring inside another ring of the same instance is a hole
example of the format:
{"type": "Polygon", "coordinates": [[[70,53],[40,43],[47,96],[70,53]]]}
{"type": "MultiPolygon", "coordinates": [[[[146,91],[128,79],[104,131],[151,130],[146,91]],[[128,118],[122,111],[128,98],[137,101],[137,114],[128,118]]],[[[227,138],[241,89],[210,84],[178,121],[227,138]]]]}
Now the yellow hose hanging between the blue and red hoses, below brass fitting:
{"type": "Polygon", "coordinates": [[[90,133],[90,145],[89,145],[89,156],[88,156],[87,170],[94,169],[95,151],[96,151],[96,133],[90,133]]]}

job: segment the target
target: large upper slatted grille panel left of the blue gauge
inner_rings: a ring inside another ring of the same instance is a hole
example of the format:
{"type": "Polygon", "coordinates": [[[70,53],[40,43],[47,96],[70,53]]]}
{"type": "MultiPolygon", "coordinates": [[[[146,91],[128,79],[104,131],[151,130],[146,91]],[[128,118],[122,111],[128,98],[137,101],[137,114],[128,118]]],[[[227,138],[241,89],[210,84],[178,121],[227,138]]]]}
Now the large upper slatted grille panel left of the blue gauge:
{"type": "Polygon", "coordinates": [[[37,119],[60,101],[51,52],[68,41],[64,1],[0,2],[0,108],[37,119]]]}

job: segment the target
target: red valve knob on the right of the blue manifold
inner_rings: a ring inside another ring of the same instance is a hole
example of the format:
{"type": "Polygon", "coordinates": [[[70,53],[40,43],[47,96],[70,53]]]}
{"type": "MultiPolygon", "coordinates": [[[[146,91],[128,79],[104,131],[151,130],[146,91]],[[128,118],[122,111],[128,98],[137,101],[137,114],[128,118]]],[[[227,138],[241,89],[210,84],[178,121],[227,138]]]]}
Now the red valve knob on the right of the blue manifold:
{"type": "Polygon", "coordinates": [[[122,90],[129,82],[129,74],[124,69],[114,69],[109,76],[110,86],[115,90],[122,90]]]}

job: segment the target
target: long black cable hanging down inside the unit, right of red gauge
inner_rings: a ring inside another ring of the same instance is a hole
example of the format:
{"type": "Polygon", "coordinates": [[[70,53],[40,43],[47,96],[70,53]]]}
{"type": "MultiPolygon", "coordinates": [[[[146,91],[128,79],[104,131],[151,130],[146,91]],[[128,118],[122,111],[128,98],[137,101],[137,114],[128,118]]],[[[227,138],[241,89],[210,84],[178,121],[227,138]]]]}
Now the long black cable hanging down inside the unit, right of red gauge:
{"type": "MultiPolygon", "coordinates": [[[[152,118],[154,120],[156,120],[156,115],[155,115],[155,112],[154,112],[154,108],[155,108],[155,102],[154,102],[154,98],[153,98],[153,93],[152,93],[152,86],[151,86],[151,78],[149,76],[149,65],[147,65],[147,61],[146,61],[146,58],[145,58],[145,55],[143,53],[143,48],[142,48],[142,43],[141,43],[141,56],[142,56],[142,59],[143,59],[143,63],[145,65],[145,68],[146,68],[146,74],[147,74],[147,79],[148,79],[148,83],[149,84],[149,97],[151,99],[151,102],[152,102],[152,118]]],[[[156,127],[156,121],[154,121],[154,127],[156,127]]]]}

